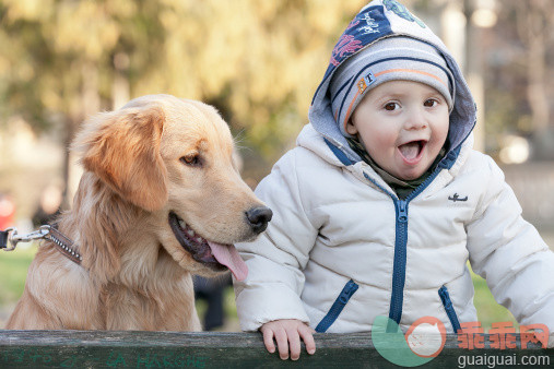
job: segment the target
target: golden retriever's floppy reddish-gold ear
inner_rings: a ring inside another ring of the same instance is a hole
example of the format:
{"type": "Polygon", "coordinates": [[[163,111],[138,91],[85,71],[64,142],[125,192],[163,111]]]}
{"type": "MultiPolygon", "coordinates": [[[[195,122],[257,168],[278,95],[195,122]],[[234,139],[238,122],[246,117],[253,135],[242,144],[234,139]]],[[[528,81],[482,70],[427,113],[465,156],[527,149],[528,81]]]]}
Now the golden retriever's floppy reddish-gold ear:
{"type": "Polygon", "coordinates": [[[167,169],[160,154],[164,128],[160,105],[102,112],[92,117],[73,144],[81,163],[123,199],[148,211],[167,201],[167,169]]]}

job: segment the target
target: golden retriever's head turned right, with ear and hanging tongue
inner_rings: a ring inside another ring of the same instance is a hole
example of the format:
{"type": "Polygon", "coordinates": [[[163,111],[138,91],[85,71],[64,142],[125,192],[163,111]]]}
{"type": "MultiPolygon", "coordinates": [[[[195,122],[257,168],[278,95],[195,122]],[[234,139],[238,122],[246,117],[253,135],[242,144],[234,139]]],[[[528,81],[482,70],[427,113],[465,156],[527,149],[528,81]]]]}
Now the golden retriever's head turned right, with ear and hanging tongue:
{"type": "Polygon", "coordinates": [[[231,131],[214,108],[143,96],[93,117],[75,142],[86,170],[149,213],[157,241],[179,265],[246,277],[233,243],[256,238],[272,213],[241,180],[231,131]]]}

